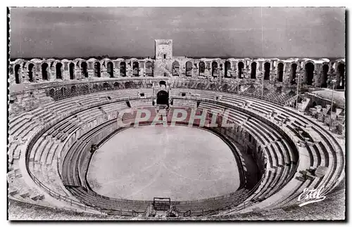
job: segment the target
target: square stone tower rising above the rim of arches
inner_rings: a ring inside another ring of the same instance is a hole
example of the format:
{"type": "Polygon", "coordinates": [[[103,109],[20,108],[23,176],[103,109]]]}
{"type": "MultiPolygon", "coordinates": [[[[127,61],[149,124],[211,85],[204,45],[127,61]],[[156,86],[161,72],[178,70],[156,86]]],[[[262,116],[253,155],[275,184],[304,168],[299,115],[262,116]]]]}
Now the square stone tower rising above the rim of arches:
{"type": "Polygon", "coordinates": [[[155,40],[155,77],[172,76],[172,39],[155,40]]]}

